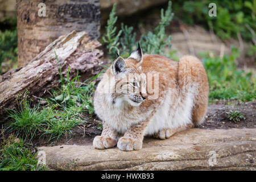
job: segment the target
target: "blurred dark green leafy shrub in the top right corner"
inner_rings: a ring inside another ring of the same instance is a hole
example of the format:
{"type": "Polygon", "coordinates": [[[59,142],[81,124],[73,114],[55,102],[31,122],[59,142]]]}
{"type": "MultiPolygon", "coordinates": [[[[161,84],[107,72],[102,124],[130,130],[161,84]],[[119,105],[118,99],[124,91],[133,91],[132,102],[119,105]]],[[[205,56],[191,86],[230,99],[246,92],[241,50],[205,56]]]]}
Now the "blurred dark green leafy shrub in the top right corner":
{"type": "Polygon", "coordinates": [[[242,38],[251,41],[255,39],[256,30],[256,0],[251,1],[175,1],[174,9],[179,9],[176,15],[184,23],[203,24],[212,29],[221,39],[230,37],[237,38],[241,34],[242,38]],[[207,16],[209,3],[216,3],[217,16],[207,16]]]}

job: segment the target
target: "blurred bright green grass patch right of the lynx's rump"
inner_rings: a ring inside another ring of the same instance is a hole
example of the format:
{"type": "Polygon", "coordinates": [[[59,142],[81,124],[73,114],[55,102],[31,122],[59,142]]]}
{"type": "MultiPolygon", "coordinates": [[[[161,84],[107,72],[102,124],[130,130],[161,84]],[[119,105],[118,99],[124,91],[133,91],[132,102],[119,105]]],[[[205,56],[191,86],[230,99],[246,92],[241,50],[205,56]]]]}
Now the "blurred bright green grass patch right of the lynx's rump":
{"type": "Polygon", "coordinates": [[[256,98],[256,76],[251,71],[237,68],[239,52],[232,48],[231,55],[224,57],[202,54],[209,80],[210,100],[253,101],[256,98]]]}

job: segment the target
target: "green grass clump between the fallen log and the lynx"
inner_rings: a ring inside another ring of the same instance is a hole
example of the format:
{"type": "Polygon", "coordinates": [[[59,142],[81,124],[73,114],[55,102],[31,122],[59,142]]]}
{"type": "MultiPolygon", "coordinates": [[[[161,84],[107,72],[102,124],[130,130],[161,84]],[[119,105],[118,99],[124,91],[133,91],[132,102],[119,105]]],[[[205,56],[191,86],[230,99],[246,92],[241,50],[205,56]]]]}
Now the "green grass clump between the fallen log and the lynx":
{"type": "Polygon", "coordinates": [[[52,89],[52,97],[45,99],[45,106],[40,106],[40,103],[31,106],[28,97],[23,97],[17,110],[7,110],[9,122],[5,131],[15,132],[24,140],[42,135],[48,135],[52,140],[72,134],[73,127],[86,123],[86,117],[92,117],[94,113],[92,94],[95,82],[92,80],[97,76],[80,82],[78,75],[69,79],[68,71],[67,78],[60,80],[60,88],[52,89]]]}

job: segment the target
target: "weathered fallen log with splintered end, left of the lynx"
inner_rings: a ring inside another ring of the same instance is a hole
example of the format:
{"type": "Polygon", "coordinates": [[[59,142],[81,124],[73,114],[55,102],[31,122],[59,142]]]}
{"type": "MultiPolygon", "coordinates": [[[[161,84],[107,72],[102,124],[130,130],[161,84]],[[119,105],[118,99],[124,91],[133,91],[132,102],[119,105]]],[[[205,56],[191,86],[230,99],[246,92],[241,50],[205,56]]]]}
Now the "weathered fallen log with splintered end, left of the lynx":
{"type": "Polygon", "coordinates": [[[102,63],[100,58],[103,52],[97,49],[100,46],[101,44],[97,40],[91,40],[86,32],[73,31],[49,44],[28,64],[2,75],[0,116],[5,113],[4,108],[16,107],[15,98],[18,93],[28,90],[30,96],[43,97],[47,90],[57,86],[57,80],[60,80],[59,66],[63,76],[67,75],[70,67],[71,78],[76,76],[77,70],[84,80],[96,75],[102,69],[99,65],[102,63]]]}

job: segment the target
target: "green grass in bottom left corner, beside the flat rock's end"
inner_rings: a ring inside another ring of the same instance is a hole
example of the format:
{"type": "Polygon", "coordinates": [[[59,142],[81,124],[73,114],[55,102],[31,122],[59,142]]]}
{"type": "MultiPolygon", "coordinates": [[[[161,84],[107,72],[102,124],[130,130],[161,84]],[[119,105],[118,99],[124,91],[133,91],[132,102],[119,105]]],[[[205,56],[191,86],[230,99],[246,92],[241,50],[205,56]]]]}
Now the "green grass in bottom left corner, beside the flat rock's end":
{"type": "Polygon", "coordinates": [[[0,171],[35,171],[47,170],[38,165],[37,152],[30,143],[22,139],[14,139],[13,135],[1,142],[0,171]]]}

